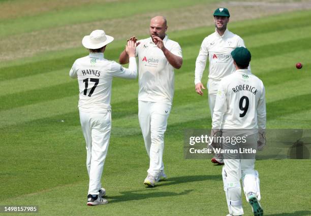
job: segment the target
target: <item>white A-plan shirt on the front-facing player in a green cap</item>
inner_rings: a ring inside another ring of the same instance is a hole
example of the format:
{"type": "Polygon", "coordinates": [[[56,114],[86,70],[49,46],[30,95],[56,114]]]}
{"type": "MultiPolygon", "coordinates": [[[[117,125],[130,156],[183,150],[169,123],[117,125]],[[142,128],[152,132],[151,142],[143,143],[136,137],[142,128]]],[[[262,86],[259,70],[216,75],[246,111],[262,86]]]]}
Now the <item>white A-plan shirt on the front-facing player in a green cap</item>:
{"type": "Polygon", "coordinates": [[[222,36],[216,30],[208,35],[202,42],[196,60],[195,84],[201,83],[207,57],[209,59],[209,79],[220,81],[223,77],[232,74],[235,67],[231,52],[237,47],[245,47],[244,41],[228,28],[222,36]]]}

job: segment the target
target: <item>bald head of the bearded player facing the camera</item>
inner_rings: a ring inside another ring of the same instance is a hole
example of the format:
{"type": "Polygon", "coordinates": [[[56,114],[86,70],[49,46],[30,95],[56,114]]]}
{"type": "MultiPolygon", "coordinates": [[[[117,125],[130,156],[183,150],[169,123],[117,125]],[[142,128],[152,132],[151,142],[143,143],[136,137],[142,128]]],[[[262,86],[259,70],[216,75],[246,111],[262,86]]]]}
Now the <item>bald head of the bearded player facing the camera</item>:
{"type": "Polygon", "coordinates": [[[167,21],[164,16],[155,16],[150,20],[150,37],[159,37],[162,40],[165,38],[167,30],[167,21]]]}

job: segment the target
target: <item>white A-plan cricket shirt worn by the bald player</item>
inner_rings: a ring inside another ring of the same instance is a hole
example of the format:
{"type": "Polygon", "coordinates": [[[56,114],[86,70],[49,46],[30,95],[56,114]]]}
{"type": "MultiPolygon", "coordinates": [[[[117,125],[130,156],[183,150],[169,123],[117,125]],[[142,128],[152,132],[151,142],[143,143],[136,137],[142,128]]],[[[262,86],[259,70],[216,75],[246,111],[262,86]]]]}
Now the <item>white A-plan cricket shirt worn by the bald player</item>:
{"type": "MultiPolygon", "coordinates": [[[[147,38],[138,41],[138,100],[172,104],[174,96],[174,67],[167,61],[163,51],[147,38]]],[[[175,41],[163,39],[166,49],[182,57],[181,48],[175,41]]]]}

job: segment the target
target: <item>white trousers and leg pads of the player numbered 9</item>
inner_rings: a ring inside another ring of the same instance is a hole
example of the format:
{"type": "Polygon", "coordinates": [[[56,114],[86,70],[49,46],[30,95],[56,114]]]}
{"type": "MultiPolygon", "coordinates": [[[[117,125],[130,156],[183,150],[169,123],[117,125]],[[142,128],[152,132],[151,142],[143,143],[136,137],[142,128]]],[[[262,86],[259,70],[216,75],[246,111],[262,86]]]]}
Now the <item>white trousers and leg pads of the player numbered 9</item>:
{"type": "MultiPolygon", "coordinates": [[[[223,136],[225,135],[223,134],[223,136]]],[[[247,148],[257,149],[257,134],[248,135],[246,143],[247,148]]],[[[232,156],[234,155],[232,154],[232,156]]],[[[222,174],[228,210],[232,215],[241,215],[244,213],[241,200],[241,178],[246,200],[248,201],[247,194],[250,192],[256,194],[260,200],[259,174],[255,170],[255,159],[224,159],[224,162],[222,174]]]]}

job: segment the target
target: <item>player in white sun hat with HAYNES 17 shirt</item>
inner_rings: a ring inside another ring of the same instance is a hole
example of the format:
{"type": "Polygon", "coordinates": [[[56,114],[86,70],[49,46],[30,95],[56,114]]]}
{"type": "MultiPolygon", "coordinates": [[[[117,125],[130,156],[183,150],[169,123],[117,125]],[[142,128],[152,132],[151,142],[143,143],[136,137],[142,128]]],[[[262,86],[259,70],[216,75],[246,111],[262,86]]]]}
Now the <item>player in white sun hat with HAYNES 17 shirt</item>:
{"type": "Polygon", "coordinates": [[[101,177],[110,139],[112,78],[137,77],[136,44],[129,41],[126,46],[130,61],[127,69],[104,58],[106,46],[112,41],[113,37],[103,30],[95,30],[85,36],[82,45],[89,50],[89,55],[77,59],[69,72],[70,77],[77,78],[79,84],[78,107],[89,176],[87,205],[108,203],[103,198],[106,190],[101,187],[101,177]]]}

